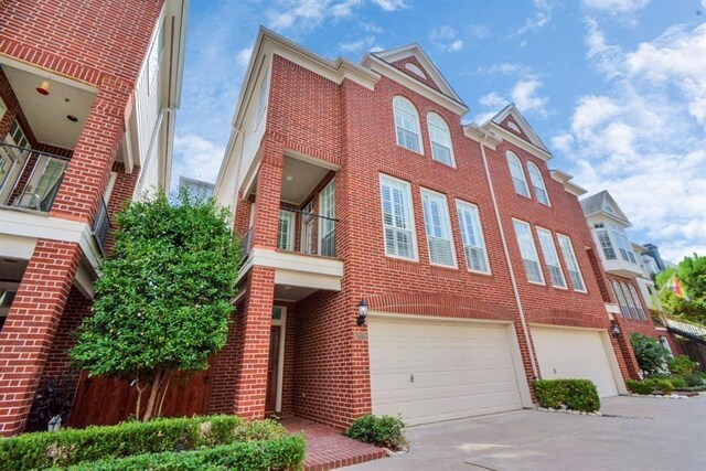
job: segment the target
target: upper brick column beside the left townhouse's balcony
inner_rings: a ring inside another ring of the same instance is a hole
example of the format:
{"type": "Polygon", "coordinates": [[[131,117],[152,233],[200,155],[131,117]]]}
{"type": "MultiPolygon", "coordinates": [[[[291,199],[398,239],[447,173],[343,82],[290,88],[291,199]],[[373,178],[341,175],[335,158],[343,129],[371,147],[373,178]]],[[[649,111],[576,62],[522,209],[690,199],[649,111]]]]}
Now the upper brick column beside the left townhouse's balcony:
{"type": "Polygon", "coordinates": [[[125,133],[125,108],[131,88],[118,78],[100,84],[52,205],[52,216],[93,222],[125,133]]]}

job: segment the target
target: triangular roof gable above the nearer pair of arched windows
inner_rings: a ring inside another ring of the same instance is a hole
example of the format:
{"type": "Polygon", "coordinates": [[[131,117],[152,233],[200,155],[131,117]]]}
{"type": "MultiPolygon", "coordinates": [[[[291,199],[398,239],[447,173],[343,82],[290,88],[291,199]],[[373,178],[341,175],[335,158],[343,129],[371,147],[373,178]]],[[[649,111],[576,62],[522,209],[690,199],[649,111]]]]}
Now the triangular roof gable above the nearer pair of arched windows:
{"type": "Polygon", "coordinates": [[[463,116],[469,110],[431,58],[419,47],[419,44],[367,53],[361,60],[361,65],[397,82],[459,116],[463,116]]]}

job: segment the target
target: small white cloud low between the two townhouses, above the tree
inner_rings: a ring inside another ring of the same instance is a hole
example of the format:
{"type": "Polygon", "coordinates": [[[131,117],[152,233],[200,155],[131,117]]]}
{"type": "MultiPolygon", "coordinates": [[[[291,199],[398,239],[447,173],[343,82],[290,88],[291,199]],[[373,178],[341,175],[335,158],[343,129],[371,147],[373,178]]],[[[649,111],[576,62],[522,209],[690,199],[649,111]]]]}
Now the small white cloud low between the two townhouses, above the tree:
{"type": "Polygon", "coordinates": [[[172,183],[179,183],[179,175],[215,182],[224,153],[225,147],[201,136],[193,133],[174,136],[175,158],[172,183]]]}

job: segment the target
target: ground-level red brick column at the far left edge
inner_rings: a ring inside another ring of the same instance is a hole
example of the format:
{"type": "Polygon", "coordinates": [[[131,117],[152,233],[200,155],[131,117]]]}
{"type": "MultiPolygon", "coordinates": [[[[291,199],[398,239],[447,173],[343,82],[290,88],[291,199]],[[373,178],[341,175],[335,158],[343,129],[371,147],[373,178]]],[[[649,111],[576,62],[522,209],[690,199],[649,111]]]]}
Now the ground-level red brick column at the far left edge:
{"type": "Polygon", "coordinates": [[[24,428],[79,261],[78,244],[36,242],[0,332],[0,435],[24,428]]]}

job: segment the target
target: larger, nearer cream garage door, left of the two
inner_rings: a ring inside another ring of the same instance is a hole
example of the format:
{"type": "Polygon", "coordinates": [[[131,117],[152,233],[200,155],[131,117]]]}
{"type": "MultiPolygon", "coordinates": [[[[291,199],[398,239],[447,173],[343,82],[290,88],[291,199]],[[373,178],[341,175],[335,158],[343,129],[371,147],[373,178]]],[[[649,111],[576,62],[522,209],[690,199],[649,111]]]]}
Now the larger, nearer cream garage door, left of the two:
{"type": "Polygon", "coordinates": [[[503,324],[368,319],[373,414],[408,425],[522,407],[503,324]]]}

